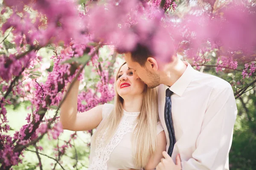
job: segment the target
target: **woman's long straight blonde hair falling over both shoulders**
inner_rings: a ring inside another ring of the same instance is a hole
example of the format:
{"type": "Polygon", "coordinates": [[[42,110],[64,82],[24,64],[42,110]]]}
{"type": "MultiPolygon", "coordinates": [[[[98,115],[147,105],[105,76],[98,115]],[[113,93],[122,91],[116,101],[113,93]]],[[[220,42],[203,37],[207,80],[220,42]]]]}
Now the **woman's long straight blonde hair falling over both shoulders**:
{"type": "MultiPolygon", "coordinates": [[[[119,73],[121,67],[125,65],[123,63],[117,71],[119,73]]],[[[116,76],[116,81],[118,80],[116,76]]],[[[115,100],[114,109],[110,115],[101,123],[94,133],[96,138],[102,138],[102,133],[106,129],[106,138],[104,140],[107,144],[113,137],[117,130],[117,127],[123,116],[123,99],[116,91],[115,81],[115,100]]],[[[157,149],[157,120],[158,120],[158,108],[157,108],[157,91],[156,88],[147,88],[144,90],[144,98],[142,109],[137,117],[137,125],[134,129],[134,135],[132,137],[132,148],[135,152],[135,164],[137,167],[145,167],[148,163],[150,156],[152,156],[157,149]],[[136,133],[135,130],[137,129],[136,133]]]]}

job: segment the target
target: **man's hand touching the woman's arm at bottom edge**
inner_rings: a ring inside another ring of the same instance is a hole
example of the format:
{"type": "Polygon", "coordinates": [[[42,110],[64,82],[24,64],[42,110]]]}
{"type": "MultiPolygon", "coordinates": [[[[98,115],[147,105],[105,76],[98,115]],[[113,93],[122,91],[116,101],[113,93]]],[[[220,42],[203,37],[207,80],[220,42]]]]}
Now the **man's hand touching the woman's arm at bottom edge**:
{"type": "Polygon", "coordinates": [[[180,154],[176,156],[176,164],[166,151],[163,151],[163,157],[156,170],[181,170],[180,154]]]}

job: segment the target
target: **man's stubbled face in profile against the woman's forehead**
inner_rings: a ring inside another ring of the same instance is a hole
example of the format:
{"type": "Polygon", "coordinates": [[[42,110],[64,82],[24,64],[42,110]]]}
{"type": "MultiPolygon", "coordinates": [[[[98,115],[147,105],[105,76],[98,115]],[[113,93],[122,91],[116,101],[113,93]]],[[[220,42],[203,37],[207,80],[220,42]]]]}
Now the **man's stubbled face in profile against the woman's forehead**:
{"type": "Polygon", "coordinates": [[[148,61],[146,61],[145,66],[141,66],[138,62],[134,62],[131,58],[131,53],[125,53],[125,61],[128,65],[128,68],[134,70],[134,75],[138,76],[148,88],[155,88],[160,85],[159,75],[148,67],[148,61]]]}

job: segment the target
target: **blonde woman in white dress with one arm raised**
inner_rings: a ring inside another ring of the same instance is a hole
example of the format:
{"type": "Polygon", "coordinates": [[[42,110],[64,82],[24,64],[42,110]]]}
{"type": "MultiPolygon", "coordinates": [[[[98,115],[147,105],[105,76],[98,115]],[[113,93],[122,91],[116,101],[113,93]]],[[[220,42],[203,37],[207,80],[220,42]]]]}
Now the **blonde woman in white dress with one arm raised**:
{"type": "Polygon", "coordinates": [[[166,150],[156,89],[147,88],[126,63],[117,73],[114,105],[105,103],[77,113],[77,81],[61,106],[61,124],[73,131],[97,127],[91,139],[89,170],[155,169],[166,150]]]}

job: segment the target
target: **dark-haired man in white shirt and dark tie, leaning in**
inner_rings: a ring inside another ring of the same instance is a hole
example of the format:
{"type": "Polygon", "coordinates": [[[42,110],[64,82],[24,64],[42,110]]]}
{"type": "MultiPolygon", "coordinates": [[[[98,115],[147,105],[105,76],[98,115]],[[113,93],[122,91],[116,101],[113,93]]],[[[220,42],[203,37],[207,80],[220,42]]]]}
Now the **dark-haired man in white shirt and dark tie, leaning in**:
{"type": "Polygon", "coordinates": [[[157,170],[228,170],[237,115],[231,85],[178,57],[163,63],[142,45],[124,56],[149,88],[158,86],[167,146],[157,170]]]}

